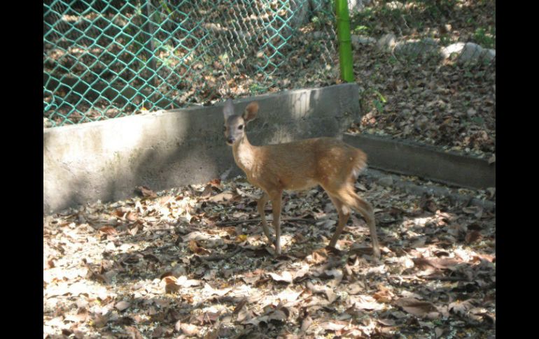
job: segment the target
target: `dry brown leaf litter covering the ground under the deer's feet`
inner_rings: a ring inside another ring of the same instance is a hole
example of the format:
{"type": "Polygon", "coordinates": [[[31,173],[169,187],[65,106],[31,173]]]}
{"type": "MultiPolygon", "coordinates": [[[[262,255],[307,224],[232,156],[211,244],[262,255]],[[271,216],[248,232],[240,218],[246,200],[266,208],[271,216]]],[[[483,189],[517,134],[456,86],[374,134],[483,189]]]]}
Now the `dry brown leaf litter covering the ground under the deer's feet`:
{"type": "Polygon", "coordinates": [[[380,263],[357,215],[326,247],[337,213],[319,188],[283,195],[279,257],[243,178],[46,215],[43,336],[493,336],[495,212],[358,187],[386,216],[380,263]]]}

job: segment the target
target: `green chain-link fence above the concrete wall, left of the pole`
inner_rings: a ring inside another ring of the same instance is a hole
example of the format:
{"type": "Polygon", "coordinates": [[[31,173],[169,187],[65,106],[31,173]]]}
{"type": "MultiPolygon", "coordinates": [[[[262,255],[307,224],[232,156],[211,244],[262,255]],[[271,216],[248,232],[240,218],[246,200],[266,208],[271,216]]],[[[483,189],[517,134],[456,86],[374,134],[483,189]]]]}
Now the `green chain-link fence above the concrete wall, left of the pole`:
{"type": "Polygon", "coordinates": [[[44,1],[45,125],[335,82],[333,17],[331,1],[44,1]]]}

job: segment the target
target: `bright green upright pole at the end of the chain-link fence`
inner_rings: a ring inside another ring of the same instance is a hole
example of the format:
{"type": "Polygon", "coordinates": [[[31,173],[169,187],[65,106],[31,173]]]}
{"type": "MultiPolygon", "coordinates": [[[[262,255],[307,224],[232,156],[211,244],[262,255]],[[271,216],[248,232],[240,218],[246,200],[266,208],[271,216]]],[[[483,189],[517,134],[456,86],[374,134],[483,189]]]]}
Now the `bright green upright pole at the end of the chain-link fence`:
{"type": "Polygon", "coordinates": [[[337,40],[339,41],[341,78],[346,82],[353,82],[352,43],[350,38],[348,0],[335,0],[335,16],[337,17],[337,40]]]}

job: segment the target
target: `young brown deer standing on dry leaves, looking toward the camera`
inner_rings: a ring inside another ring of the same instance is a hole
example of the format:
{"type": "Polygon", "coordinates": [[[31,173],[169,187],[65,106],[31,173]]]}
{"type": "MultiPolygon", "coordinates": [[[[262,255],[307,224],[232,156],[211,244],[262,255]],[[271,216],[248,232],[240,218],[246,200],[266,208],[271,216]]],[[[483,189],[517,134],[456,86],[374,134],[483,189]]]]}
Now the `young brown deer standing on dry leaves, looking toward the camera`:
{"type": "Polygon", "coordinates": [[[281,196],[283,190],[299,191],[321,185],[335,205],[339,222],[330,246],[335,247],[351,210],[356,210],[369,225],[374,257],[380,249],[374,213],[367,201],[360,199],[354,189],[360,171],[365,168],[367,156],[358,148],[335,138],[312,138],[279,145],[253,146],[247,140],[245,127],[255,119],[258,103],[251,102],[243,115],[234,114],[232,100],[225,102],[225,138],[232,145],[236,164],[247,175],[252,185],[264,192],[258,200],[262,229],[270,243],[275,244],[276,254],[281,254],[281,196]],[[269,234],[264,208],[267,201],[273,205],[275,238],[269,234]]]}

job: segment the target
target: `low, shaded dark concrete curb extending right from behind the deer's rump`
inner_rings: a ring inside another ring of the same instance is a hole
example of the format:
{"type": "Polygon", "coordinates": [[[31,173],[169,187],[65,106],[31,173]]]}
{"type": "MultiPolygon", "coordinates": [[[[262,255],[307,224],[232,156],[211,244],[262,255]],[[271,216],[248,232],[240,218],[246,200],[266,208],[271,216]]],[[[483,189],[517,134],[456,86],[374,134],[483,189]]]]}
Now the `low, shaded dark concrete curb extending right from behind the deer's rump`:
{"type": "Polygon", "coordinates": [[[343,140],[365,151],[372,168],[474,189],[496,187],[496,164],[486,159],[365,134],[344,134],[343,140]]]}

